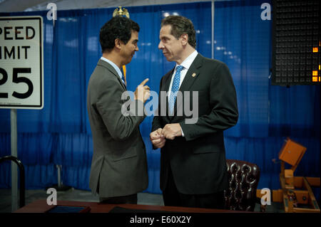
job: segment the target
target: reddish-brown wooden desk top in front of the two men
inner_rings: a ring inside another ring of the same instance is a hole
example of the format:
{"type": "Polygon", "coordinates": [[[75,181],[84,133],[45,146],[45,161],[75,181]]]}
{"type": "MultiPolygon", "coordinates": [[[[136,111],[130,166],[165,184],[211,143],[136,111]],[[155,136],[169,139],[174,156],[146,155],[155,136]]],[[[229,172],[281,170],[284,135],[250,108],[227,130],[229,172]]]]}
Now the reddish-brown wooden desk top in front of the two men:
{"type": "MultiPolygon", "coordinates": [[[[152,211],[160,212],[183,212],[183,213],[240,213],[243,211],[230,211],[230,210],[219,210],[219,209],[208,209],[208,208],[188,208],[188,207],[175,207],[175,206],[151,206],[151,205],[136,205],[136,204],[100,204],[95,202],[82,202],[82,201],[57,201],[59,206],[89,206],[91,213],[108,213],[114,207],[122,207],[128,209],[146,210],[151,213],[152,211]]],[[[37,200],[31,204],[19,208],[14,213],[44,213],[49,211],[53,206],[49,206],[46,200],[37,200]]]]}

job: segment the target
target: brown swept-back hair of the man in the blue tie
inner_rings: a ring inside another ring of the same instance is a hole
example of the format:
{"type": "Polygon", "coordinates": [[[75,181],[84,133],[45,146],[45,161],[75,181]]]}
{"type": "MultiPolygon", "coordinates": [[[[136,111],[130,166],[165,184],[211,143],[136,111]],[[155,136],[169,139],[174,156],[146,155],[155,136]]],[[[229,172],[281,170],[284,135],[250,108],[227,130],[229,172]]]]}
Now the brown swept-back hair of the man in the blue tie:
{"type": "Polygon", "coordinates": [[[188,34],[188,43],[196,48],[195,29],[190,19],[184,16],[167,16],[162,20],[161,27],[166,25],[172,26],[170,33],[177,39],[183,34],[188,34]]]}

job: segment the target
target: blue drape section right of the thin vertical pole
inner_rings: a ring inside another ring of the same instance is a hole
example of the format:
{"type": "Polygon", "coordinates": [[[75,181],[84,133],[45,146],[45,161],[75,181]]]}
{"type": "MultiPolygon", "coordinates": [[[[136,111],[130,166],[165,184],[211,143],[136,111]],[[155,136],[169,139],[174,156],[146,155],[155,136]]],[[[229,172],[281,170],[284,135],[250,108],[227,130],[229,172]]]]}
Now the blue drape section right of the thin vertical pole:
{"type": "Polygon", "coordinates": [[[225,131],[226,156],[258,164],[259,189],[280,189],[280,162],[272,159],[287,137],[307,147],[295,175],[320,177],[320,86],[270,84],[272,21],[260,18],[265,2],[271,4],[215,2],[214,57],[230,68],[238,95],[240,117],[225,131]]]}

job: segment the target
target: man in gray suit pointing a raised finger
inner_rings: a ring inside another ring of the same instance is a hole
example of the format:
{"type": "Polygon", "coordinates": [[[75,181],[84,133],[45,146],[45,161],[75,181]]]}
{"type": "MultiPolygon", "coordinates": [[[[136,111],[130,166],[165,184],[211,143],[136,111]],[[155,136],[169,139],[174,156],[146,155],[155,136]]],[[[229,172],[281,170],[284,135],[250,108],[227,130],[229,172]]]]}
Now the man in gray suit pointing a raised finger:
{"type": "MultiPolygon", "coordinates": [[[[113,17],[100,31],[103,56],[88,82],[87,110],[93,135],[89,185],[108,204],[137,204],[137,192],[148,186],[146,148],[139,131],[143,108],[124,115],[126,92],[121,68],[138,51],[139,26],[131,19],[113,17]]],[[[149,88],[144,80],[128,110],[143,107],[149,88]]],[[[125,110],[127,110],[125,108],[125,110]]]]}

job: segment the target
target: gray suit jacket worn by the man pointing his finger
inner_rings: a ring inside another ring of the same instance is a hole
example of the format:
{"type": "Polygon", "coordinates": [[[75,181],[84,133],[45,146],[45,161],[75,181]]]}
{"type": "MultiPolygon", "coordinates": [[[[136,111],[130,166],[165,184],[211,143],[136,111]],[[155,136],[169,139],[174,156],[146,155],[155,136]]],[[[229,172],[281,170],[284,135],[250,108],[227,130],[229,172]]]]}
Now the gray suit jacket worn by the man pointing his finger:
{"type": "Polygon", "coordinates": [[[116,70],[99,60],[88,82],[87,110],[93,135],[89,186],[100,197],[136,194],[148,186],[146,148],[139,131],[146,116],[122,115],[125,91],[116,70]]]}

